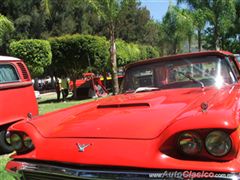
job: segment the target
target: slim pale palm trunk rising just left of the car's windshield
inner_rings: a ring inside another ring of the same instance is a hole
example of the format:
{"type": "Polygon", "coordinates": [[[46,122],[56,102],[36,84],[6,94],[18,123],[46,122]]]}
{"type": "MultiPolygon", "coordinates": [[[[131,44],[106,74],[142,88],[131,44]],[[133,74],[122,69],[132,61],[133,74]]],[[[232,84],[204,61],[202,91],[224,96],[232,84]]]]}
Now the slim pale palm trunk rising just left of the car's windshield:
{"type": "Polygon", "coordinates": [[[117,74],[117,57],[116,57],[116,45],[115,45],[115,37],[114,37],[114,27],[112,26],[110,30],[110,61],[112,66],[112,80],[113,80],[113,93],[119,93],[118,86],[118,74],[117,74]]]}

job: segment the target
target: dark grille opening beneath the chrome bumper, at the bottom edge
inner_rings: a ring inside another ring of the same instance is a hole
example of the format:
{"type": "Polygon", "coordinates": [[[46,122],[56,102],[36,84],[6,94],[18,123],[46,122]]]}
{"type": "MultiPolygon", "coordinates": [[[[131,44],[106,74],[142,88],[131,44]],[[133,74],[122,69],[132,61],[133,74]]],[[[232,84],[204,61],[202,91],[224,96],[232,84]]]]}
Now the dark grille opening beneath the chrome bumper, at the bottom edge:
{"type": "Polygon", "coordinates": [[[85,180],[85,179],[76,178],[76,177],[66,177],[66,176],[60,176],[60,175],[29,172],[29,171],[23,171],[22,175],[24,180],[85,180]]]}

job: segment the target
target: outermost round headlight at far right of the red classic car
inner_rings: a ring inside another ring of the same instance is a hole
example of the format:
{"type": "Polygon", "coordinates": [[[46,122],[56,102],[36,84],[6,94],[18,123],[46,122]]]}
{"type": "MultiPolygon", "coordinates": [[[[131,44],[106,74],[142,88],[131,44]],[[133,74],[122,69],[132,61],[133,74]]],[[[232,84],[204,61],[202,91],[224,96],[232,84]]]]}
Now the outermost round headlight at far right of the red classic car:
{"type": "Polygon", "coordinates": [[[227,133],[223,131],[213,131],[208,134],[205,146],[211,155],[220,157],[230,151],[232,143],[227,133]]]}

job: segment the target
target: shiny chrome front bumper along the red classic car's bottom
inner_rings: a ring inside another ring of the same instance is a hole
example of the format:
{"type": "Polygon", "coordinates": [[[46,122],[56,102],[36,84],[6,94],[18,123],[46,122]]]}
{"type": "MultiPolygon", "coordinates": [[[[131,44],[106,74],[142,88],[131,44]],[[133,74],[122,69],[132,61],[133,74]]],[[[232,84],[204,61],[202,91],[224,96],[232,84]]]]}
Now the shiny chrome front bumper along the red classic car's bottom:
{"type": "MultiPolygon", "coordinates": [[[[80,168],[67,168],[64,166],[55,166],[41,163],[28,163],[20,161],[10,161],[6,166],[8,173],[12,174],[16,179],[25,179],[30,176],[40,176],[43,178],[76,178],[76,179],[89,179],[89,180],[146,180],[146,179],[166,179],[166,177],[152,177],[151,174],[164,174],[167,172],[176,173],[176,170],[92,170],[80,168]],[[26,176],[25,176],[26,175],[26,176]]],[[[183,171],[179,171],[183,172],[183,171]]],[[[230,176],[220,179],[235,179],[240,178],[239,173],[228,173],[230,176]]],[[[168,179],[168,178],[167,178],[168,179]]],[[[171,178],[172,179],[172,178],[171,178]]],[[[183,179],[183,177],[174,177],[174,179],[183,179]]],[[[191,178],[192,179],[192,178],[191,178]]],[[[219,178],[217,178],[219,179],[219,178]]]]}

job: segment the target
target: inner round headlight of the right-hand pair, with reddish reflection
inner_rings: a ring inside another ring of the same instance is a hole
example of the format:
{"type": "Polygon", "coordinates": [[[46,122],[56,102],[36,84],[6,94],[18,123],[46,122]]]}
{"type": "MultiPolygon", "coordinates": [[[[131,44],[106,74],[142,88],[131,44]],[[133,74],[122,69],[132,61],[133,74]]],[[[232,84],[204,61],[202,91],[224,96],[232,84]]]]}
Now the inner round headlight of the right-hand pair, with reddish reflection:
{"type": "Polygon", "coordinates": [[[202,141],[196,133],[185,132],[179,136],[178,145],[182,152],[194,155],[202,150],[202,141]]]}

